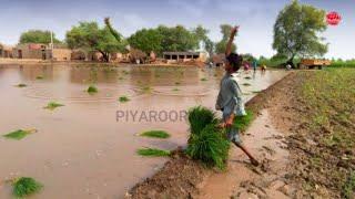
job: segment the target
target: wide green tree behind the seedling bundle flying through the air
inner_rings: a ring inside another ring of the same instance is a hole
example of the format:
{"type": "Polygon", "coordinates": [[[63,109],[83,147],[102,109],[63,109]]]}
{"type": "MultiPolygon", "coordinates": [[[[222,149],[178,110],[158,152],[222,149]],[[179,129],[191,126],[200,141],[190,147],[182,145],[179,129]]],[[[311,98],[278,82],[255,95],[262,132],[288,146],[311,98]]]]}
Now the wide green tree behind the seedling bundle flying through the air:
{"type": "Polygon", "coordinates": [[[110,53],[119,52],[122,45],[112,35],[110,28],[105,25],[100,29],[97,22],[80,22],[67,32],[69,48],[80,48],[88,52],[98,51],[105,62],[110,61],[110,53]]]}

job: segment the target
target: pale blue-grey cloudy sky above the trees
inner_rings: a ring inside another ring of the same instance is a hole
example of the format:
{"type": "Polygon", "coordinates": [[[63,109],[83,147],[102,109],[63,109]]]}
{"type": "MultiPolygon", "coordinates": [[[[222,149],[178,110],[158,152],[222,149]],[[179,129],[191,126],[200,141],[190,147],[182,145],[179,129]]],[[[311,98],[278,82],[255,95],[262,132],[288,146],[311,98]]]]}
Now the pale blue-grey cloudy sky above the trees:
{"type": "MultiPolygon", "coordinates": [[[[354,0],[301,0],[326,11],[337,11],[343,21],[324,33],[329,51],[326,57],[355,57],[354,0]]],[[[202,24],[213,41],[221,39],[221,23],[240,24],[236,44],[240,53],[271,56],[273,24],[290,0],[0,0],[0,42],[16,44],[29,29],[52,30],[64,39],[79,21],[110,17],[114,28],[129,36],[142,28],[159,24],[202,24]]]]}

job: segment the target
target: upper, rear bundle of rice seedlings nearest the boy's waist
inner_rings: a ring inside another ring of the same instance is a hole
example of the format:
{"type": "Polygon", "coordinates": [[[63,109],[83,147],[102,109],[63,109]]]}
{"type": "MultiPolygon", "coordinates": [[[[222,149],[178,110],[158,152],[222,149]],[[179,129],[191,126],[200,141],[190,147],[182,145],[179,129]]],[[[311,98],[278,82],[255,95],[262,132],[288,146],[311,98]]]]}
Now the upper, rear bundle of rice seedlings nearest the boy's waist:
{"type": "Polygon", "coordinates": [[[192,107],[187,114],[191,134],[199,134],[209,124],[219,123],[214,112],[203,106],[192,107]]]}

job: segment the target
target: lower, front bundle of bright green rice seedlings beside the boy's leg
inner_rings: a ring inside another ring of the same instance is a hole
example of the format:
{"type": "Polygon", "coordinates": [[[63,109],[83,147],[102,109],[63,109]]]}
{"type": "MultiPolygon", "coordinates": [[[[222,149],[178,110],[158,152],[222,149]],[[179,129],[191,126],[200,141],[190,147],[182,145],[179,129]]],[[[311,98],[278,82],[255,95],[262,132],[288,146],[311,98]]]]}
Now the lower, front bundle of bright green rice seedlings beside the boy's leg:
{"type": "Polygon", "coordinates": [[[229,157],[230,142],[215,124],[209,124],[200,134],[191,134],[186,154],[210,167],[223,170],[229,157]]]}

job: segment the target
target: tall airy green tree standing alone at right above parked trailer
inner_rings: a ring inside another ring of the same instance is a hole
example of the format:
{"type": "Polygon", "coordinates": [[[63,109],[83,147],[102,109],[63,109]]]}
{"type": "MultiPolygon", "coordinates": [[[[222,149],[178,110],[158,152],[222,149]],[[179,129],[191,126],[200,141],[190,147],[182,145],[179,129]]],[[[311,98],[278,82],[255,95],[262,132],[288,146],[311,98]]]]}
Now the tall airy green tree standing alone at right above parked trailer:
{"type": "MultiPolygon", "coordinates": [[[[294,0],[280,11],[274,24],[273,49],[293,63],[295,56],[324,55],[327,44],[317,34],[326,30],[325,11],[294,0]]],[[[293,64],[292,64],[293,65],[293,64]]]]}

